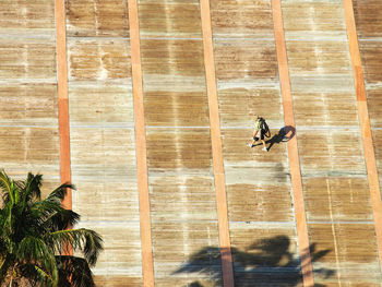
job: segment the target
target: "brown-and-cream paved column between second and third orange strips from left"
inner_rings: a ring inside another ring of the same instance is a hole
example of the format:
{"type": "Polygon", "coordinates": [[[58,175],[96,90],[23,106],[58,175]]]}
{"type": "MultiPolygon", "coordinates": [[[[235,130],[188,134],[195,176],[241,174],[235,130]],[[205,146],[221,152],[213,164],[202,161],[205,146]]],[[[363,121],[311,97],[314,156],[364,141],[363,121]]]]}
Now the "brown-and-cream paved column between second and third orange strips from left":
{"type": "Polygon", "coordinates": [[[155,285],[211,286],[220,273],[216,253],[203,254],[204,272],[191,262],[218,247],[199,1],[139,9],[155,285]]]}

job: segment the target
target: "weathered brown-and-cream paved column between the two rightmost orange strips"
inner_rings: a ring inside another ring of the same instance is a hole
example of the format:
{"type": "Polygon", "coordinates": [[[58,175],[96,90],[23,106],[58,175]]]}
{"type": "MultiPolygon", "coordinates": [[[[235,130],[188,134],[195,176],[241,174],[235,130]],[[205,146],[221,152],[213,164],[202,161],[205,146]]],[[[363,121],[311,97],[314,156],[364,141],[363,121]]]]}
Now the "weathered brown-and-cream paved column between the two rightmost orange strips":
{"type": "Polygon", "coordinates": [[[315,283],[380,284],[362,133],[358,123],[346,24],[342,21],[343,3],[284,1],[283,9],[291,93],[297,104],[296,123],[309,236],[319,250],[331,250],[314,262],[313,267],[335,271],[329,278],[314,273],[315,283]],[[299,22],[307,24],[297,26],[299,22]],[[313,97],[315,100],[311,105],[313,97]],[[341,103],[337,101],[339,98],[341,103]],[[303,130],[299,130],[300,125],[303,130]],[[353,189],[356,182],[363,184],[358,183],[353,189]],[[314,195],[313,187],[318,189],[314,195]],[[360,196],[357,206],[354,206],[354,195],[360,196]],[[317,217],[319,212],[320,219],[317,217]],[[356,223],[358,220],[362,224],[356,223]],[[365,238],[368,240],[363,241],[365,238]]]}

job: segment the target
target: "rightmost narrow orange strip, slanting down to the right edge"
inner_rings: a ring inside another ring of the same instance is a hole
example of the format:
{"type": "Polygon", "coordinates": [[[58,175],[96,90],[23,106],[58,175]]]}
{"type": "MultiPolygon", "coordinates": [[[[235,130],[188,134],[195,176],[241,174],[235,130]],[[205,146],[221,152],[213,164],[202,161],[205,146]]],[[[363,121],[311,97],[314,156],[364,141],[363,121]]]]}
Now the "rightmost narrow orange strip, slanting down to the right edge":
{"type": "Polygon", "coordinates": [[[359,125],[362,134],[365,162],[368,171],[368,181],[370,190],[371,206],[373,210],[375,235],[378,242],[378,250],[380,255],[380,264],[382,263],[382,203],[380,184],[378,178],[377,160],[374,154],[373,140],[370,128],[368,103],[366,97],[366,89],[363,83],[362,63],[359,53],[358,37],[356,29],[356,22],[353,10],[351,0],[343,0],[345,21],[347,28],[347,37],[349,41],[349,51],[351,65],[354,71],[354,81],[357,94],[357,106],[359,125]]]}

